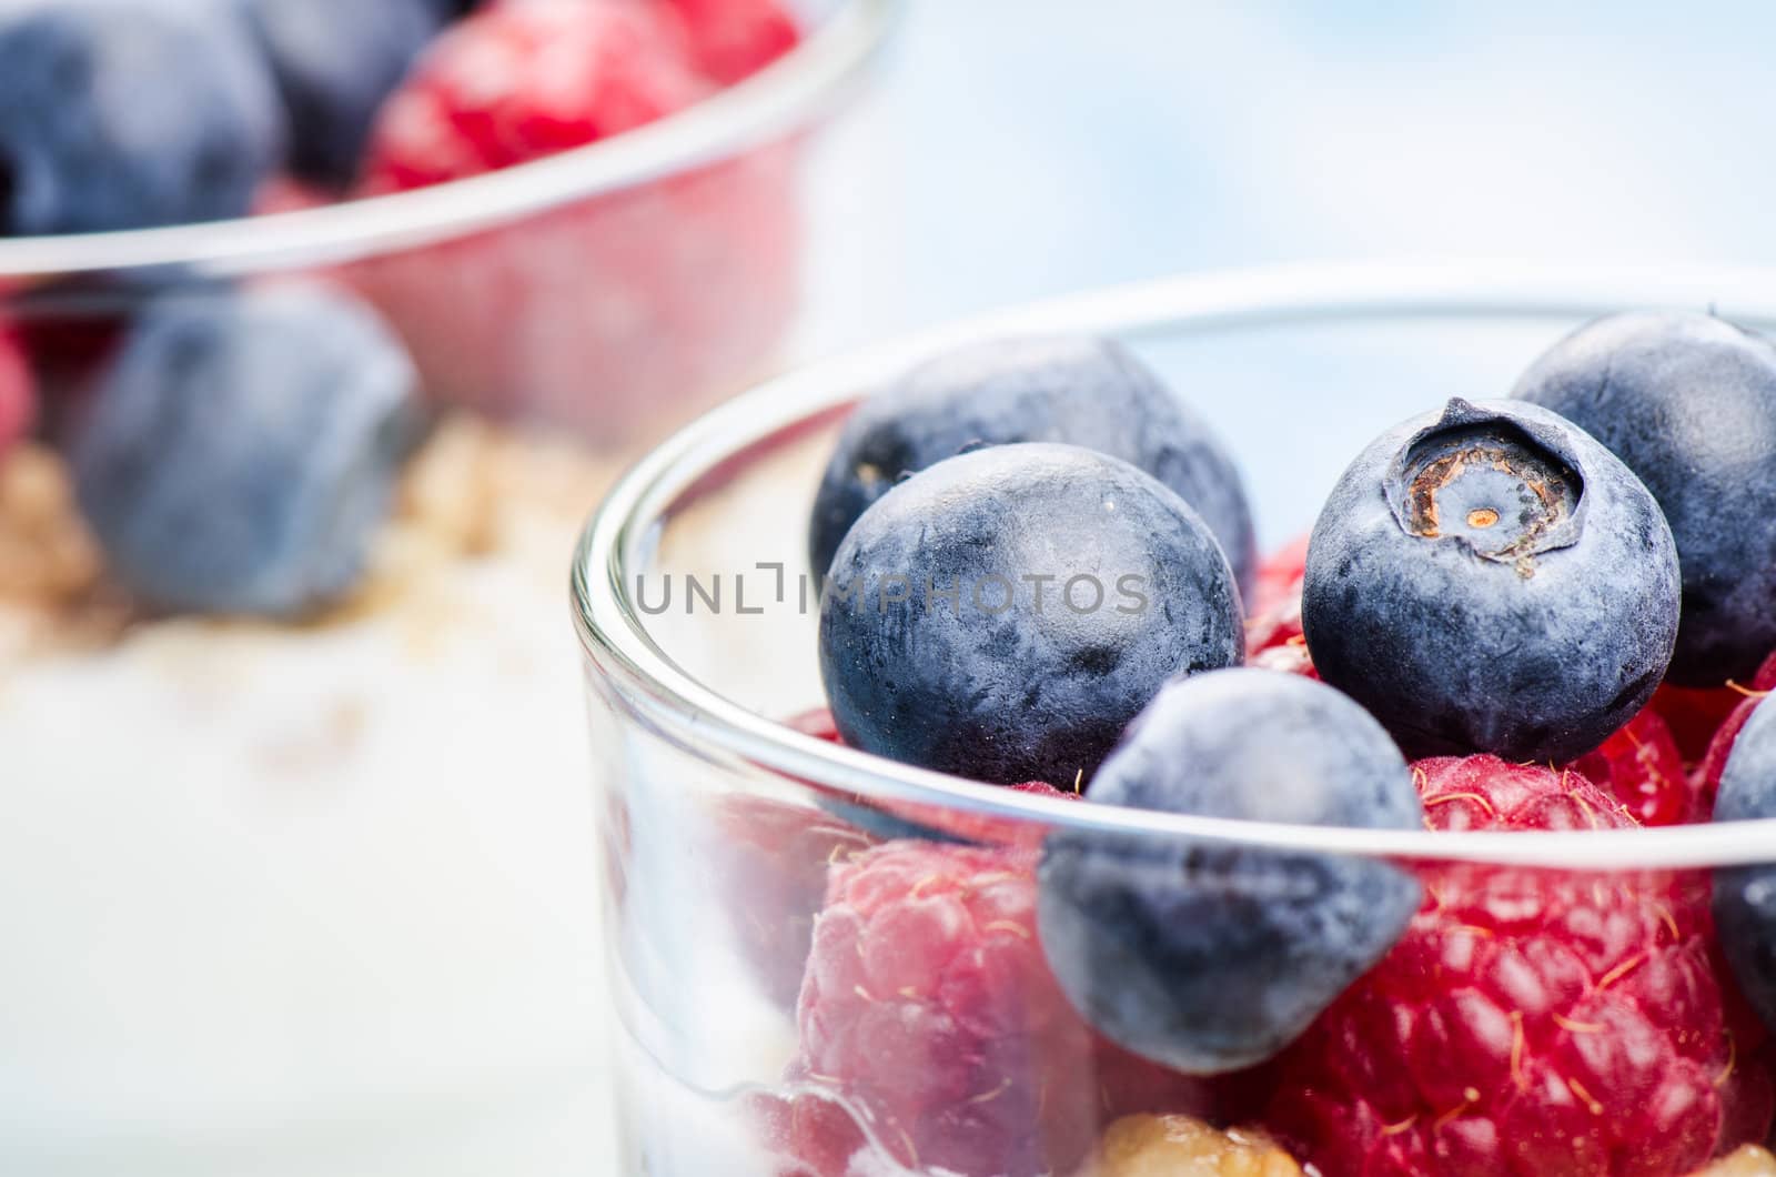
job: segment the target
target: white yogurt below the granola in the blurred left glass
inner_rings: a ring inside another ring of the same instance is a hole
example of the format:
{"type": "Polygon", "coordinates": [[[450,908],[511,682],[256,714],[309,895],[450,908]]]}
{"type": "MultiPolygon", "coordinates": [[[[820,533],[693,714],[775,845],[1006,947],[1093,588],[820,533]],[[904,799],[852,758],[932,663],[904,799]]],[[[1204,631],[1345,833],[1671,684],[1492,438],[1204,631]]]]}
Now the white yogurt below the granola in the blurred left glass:
{"type": "Polygon", "coordinates": [[[163,624],[0,686],[0,1172],[588,1156],[597,873],[552,565],[458,565],[320,631],[163,624]]]}

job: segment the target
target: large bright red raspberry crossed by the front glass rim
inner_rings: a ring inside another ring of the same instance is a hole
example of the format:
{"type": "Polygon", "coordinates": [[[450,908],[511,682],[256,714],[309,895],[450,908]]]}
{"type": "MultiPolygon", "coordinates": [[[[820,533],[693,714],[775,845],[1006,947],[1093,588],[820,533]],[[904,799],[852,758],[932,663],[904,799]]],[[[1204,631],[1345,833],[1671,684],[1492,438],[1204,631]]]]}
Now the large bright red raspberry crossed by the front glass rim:
{"type": "MultiPolygon", "coordinates": [[[[1634,825],[1574,772],[1472,756],[1415,775],[1439,830],[1634,825]]],[[[1666,1177],[1762,1138],[1705,877],[1456,864],[1424,884],[1394,951],[1275,1063],[1268,1124],[1296,1156],[1327,1177],[1666,1177]]]]}

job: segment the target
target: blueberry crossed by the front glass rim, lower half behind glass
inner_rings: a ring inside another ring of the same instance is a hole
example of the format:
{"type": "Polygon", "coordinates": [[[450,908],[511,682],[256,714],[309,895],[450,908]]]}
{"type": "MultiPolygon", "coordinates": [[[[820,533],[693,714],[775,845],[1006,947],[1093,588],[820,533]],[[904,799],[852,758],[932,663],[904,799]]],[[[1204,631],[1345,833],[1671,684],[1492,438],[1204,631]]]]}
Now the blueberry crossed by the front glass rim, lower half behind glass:
{"type": "MultiPolygon", "coordinates": [[[[1339,692],[1273,670],[1172,683],[1087,800],[1211,818],[1421,829],[1412,770],[1339,692]]],[[[1050,834],[1037,919],[1073,1005],[1192,1074],[1288,1045],[1399,939],[1417,882],[1368,859],[1085,830],[1050,834]]]]}

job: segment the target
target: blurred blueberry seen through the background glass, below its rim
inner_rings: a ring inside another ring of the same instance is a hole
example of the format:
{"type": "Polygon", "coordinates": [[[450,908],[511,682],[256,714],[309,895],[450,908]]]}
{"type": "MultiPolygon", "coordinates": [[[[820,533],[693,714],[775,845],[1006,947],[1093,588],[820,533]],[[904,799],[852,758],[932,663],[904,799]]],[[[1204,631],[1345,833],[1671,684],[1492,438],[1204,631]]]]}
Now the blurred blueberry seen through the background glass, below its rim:
{"type": "Polygon", "coordinates": [[[197,612],[291,615],[348,590],[414,436],[414,382],[341,292],[163,295],[71,446],[114,574],[197,612]]]}

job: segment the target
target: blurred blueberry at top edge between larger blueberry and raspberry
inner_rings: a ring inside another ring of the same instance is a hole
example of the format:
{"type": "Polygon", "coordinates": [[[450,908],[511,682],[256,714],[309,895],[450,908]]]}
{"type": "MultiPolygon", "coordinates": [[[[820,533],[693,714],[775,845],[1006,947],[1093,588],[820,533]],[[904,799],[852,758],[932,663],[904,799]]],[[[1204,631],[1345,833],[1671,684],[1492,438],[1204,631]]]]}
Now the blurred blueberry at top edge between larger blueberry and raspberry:
{"type": "Polygon", "coordinates": [[[357,178],[384,100],[446,16],[439,0],[238,0],[289,116],[289,167],[316,183],[357,178]]]}

